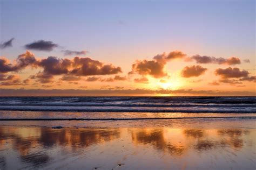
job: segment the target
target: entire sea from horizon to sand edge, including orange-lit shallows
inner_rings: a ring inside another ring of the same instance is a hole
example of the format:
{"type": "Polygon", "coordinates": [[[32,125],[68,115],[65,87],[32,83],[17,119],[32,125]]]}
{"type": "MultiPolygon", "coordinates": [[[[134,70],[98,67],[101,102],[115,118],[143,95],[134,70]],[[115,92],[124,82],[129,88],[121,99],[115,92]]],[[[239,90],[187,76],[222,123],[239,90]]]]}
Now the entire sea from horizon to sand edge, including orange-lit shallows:
{"type": "Polygon", "coordinates": [[[252,117],[256,97],[0,97],[0,119],[252,117]]]}

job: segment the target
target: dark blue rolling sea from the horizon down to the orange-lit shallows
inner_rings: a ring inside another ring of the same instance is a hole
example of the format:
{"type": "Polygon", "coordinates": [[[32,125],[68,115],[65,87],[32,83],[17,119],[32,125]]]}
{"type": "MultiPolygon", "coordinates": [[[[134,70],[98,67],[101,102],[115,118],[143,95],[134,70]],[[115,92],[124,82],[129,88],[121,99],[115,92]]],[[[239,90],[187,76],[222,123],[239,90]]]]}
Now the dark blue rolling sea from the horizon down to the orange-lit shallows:
{"type": "Polygon", "coordinates": [[[256,97],[0,97],[0,110],[256,113],[256,97]]]}

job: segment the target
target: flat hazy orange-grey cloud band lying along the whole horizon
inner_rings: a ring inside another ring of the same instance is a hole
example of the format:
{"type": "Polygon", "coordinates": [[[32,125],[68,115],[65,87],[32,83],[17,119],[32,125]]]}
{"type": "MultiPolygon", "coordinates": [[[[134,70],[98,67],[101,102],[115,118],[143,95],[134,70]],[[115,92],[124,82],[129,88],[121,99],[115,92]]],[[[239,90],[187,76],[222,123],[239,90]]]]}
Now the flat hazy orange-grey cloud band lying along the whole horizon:
{"type": "Polygon", "coordinates": [[[220,91],[220,90],[150,90],[150,89],[103,89],[103,90],[75,90],[75,89],[0,89],[1,96],[109,96],[109,95],[193,95],[193,96],[255,96],[255,91],[220,91]]]}

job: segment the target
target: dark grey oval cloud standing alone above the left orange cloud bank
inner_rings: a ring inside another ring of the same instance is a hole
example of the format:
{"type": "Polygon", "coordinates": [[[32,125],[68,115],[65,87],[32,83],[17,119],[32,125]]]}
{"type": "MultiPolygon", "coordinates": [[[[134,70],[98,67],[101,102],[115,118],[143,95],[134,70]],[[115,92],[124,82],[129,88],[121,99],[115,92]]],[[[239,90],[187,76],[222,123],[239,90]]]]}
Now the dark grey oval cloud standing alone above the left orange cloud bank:
{"type": "Polygon", "coordinates": [[[52,41],[45,40],[38,40],[25,45],[26,49],[35,49],[38,51],[52,51],[55,47],[58,47],[58,45],[54,44],[52,41]]]}

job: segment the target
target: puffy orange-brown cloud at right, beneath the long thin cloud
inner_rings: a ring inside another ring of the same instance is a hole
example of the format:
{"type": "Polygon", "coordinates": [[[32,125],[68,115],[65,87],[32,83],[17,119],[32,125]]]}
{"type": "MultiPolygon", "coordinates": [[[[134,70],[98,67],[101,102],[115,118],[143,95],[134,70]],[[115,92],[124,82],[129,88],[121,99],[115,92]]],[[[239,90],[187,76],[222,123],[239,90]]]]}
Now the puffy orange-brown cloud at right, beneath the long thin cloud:
{"type": "Polygon", "coordinates": [[[221,76],[223,79],[228,78],[239,78],[239,77],[247,77],[249,72],[246,70],[241,70],[239,68],[231,68],[228,67],[226,69],[218,68],[215,70],[215,74],[221,76]]]}

